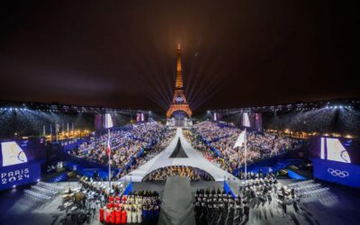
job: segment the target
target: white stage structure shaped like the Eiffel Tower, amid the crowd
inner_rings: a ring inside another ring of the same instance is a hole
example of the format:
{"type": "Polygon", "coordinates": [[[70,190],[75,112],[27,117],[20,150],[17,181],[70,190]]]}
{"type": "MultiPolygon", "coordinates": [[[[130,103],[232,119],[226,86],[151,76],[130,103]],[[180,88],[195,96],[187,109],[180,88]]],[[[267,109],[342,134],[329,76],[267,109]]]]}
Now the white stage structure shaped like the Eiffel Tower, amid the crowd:
{"type": "Polygon", "coordinates": [[[153,157],[146,164],[139,166],[139,168],[130,172],[121,178],[121,181],[141,182],[142,179],[150,172],[166,166],[193,166],[209,173],[215,181],[223,181],[225,179],[236,180],[236,176],[229,174],[220,167],[215,166],[209,160],[202,156],[202,153],[195,150],[191,144],[184,138],[183,130],[176,129],[175,138],[171,143],[156,157],[153,157]],[[178,139],[180,139],[184,152],[187,157],[170,157],[175,150],[178,139]]]}

